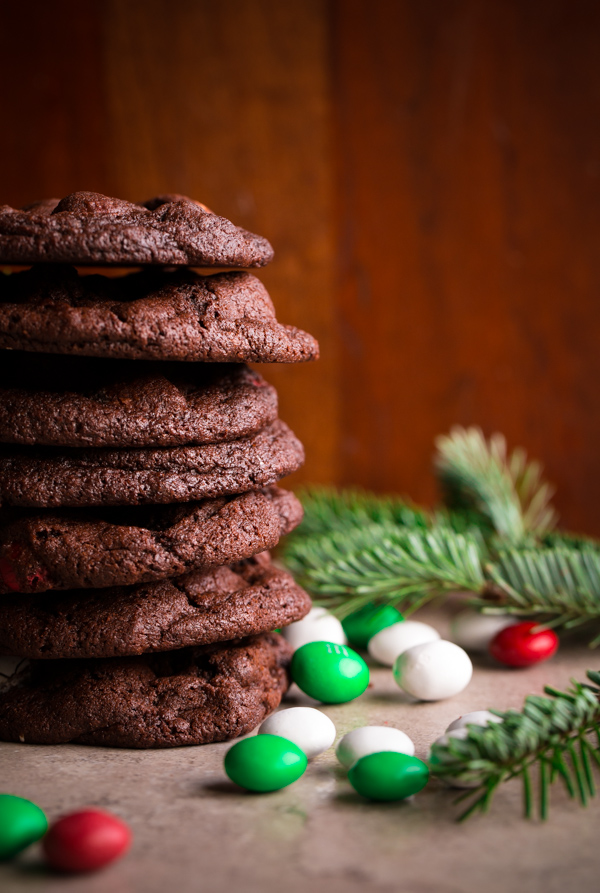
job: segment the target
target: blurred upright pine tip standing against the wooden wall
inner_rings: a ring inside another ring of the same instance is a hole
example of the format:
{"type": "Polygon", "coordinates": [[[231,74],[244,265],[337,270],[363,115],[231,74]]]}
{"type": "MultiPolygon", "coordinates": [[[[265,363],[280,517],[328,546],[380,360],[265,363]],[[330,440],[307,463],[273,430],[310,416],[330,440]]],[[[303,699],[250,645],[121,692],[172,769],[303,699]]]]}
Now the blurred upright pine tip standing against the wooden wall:
{"type": "Polygon", "coordinates": [[[542,536],[556,523],[550,506],[553,490],[543,481],[541,466],[516,449],[508,455],[502,434],[486,441],[479,428],[453,428],[436,440],[434,459],[444,501],[453,511],[478,516],[513,544],[542,536]]]}

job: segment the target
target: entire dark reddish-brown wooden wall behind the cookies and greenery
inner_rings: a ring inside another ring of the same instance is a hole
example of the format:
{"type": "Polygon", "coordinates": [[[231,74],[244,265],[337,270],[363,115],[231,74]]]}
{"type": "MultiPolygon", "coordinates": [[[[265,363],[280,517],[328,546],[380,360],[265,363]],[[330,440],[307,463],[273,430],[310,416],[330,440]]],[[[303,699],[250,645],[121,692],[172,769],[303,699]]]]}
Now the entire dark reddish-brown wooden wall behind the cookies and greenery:
{"type": "MultiPolygon", "coordinates": [[[[600,533],[600,4],[0,2],[0,200],[181,192],[276,249],[296,481],[435,499],[503,431],[600,533]]],[[[263,370],[265,371],[265,370],[263,370]]]]}

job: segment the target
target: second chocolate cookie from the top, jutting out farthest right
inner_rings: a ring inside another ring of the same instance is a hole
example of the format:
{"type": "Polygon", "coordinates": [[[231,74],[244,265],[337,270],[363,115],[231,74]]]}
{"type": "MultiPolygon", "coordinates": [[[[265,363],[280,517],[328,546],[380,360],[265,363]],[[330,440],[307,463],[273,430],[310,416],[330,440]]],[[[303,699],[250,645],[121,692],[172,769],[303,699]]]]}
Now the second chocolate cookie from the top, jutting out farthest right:
{"type": "Polygon", "coordinates": [[[109,278],[62,266],[0,274],[0,347],[218,363],[299,363],[319,353],[311,335],[277,322],[250,273],[109,278]]]}

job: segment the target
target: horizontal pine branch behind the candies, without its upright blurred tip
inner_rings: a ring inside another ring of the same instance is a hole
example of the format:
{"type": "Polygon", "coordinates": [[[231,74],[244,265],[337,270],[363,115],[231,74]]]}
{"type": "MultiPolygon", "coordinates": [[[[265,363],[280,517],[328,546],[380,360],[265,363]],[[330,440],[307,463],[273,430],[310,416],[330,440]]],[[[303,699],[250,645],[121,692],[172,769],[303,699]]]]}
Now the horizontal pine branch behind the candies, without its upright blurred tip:
{"type": "Polygon", "coordinates": [[[332,510],[338,526],[329,534],[290,538],[284,560],[318,604],[339,616],[370,601],[410,614],[436,596],[467,591],[481,610],[535,617],[567,629],[587,624],[593,628],[592,644],[600,642],[597,543],[552,534],[546,539],[556,543],[553,547],[500,543],[494,552],[490,548],[497,541],[486,547],[476,528],[457,532],[456,516],[427,519],[413,513],[403,527],[384,511],[378,513],[376,500],[371,497],[366,514],[361,496],[354,515],[351,499],[327,494],[326,502],[317,503],[317,513],[309,498],[313,529],[319,529],[314,519],[326,518],[332,510]],[[369,520],[373,517],[381,520],[369,520]]]}

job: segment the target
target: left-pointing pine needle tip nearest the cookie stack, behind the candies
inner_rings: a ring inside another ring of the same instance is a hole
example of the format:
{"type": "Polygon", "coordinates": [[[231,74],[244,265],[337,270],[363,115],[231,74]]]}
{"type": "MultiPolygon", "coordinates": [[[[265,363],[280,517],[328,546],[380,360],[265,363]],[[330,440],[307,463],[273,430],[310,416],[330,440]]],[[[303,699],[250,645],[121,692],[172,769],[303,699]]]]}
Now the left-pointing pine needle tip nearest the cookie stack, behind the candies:
{"type": "Polygon", "coordinates": [[[318,604],[345,616],[368,602],[393,603],[410,614],[443,592],[480,592],[483,539],[446,523],[429,529],[370,524],[288,545],[290,570],[318,604]]]}

